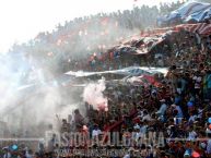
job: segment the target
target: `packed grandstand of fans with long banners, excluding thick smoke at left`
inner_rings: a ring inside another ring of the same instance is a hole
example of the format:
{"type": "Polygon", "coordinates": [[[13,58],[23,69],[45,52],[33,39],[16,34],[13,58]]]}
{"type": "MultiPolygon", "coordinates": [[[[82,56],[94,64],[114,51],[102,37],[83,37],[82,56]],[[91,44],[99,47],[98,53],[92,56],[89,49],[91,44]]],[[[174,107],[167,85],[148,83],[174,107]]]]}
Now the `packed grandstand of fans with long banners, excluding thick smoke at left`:
{"type": "MultiPolygon", "coordinates": [[[[47,139],[38,144],[15,136],[1,143],[0,157],[210,158],[211,3],[166,8],[160,17],[155,8],[142,8],[153,10],[156,22],[144,23],[141,9],[134,8],[109,17],[79,19],[39,34],[28,46],[14,46],[10,56],[27,50],[32,54],[24,56],[36,59],[35,64],[42,60],[42,66],[50,66],[44,72],[56,72],[57,87],[82,88],[83,108],[73,109],[68,119],[57,116],[59,125],[49,123],[47,139]],[[125,20],[130,16],[134,19],[125,20]],[[99,36],[90,35],[94,23],[101,25],[99,36]],[[138,29],[149,25],[154,26],[138,29]]],[[[37,78],[28,75],[19,93],[32,93],[44,83],[55,86],[51,76],[32,84],[37,78]]]]}

